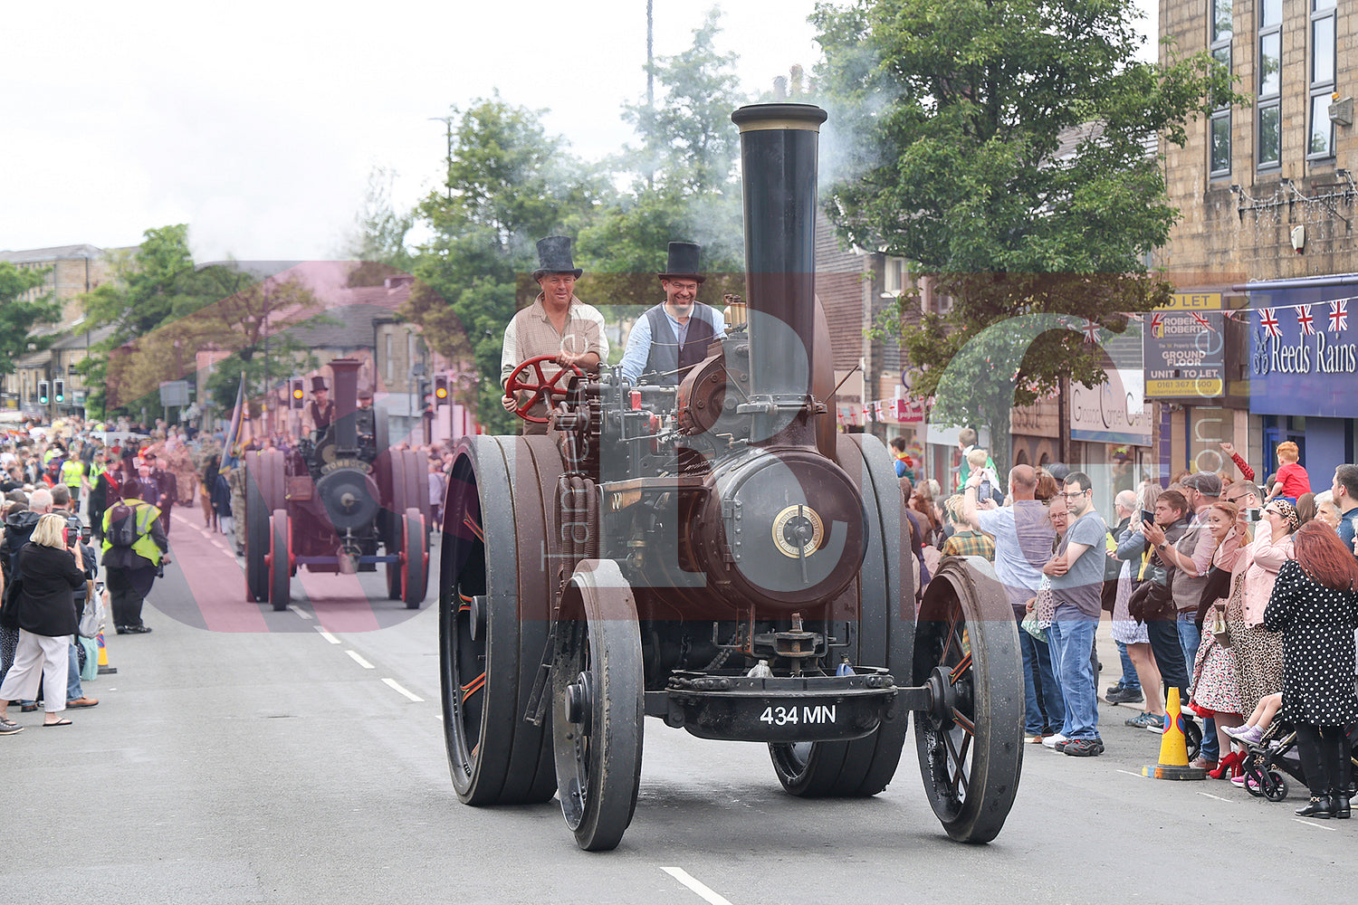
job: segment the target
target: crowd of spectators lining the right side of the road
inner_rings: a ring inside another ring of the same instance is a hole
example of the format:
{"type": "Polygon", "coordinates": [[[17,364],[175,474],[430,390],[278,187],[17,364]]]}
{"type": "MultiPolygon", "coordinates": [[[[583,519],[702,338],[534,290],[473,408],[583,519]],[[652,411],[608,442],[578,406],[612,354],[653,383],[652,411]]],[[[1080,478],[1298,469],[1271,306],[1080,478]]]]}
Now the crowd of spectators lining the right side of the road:
{"type": "Polygon", "coordinates": [[[1312,493],[1297,446],[1285,442],[1278,472],[1259,486],[1221,444],[1238,474],[1124,486],[1105,520],[1088,474],[1016,465],[997,486],[975,442],[974,431],[961,433],[949,495],[934,480],[914,483],[899,464],[898,475],[921,593],[944,555],[994,563],[1020,623],[1025,741],[1071,757],[1104,752],[1095,635],[1107,621],[1120,676],[1103,699],[1139,706],[1127,726],[1162,733],[1168,692],[1177,689],[1191,765],[1243,786],[1251,746],[1285,720],[1297,730],[1310,790],[1298,814],[1347,817],[1347,729],[1358,723],[1358,465],[1339,465],[1329,488],[1312,493]]]}

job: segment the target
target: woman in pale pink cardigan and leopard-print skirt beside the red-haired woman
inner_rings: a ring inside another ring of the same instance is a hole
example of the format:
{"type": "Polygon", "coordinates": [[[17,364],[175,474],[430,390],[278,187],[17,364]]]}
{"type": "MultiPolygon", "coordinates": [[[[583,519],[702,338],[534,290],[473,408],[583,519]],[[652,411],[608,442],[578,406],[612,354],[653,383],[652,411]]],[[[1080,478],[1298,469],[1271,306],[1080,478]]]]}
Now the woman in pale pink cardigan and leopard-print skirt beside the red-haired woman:
{"type": "Polygon", "coordinates": [[[1286,499],[1270,501],[1255,528],[1255,540],[1245,548],[1232,575],[1233,592],[1234,582],[1243,578],[1243,593],[1232,594],[1226,623],[1230,625],[1240,706],[1245,714],[1255,708],[1259,699],[1282,691],[1282,634],[1268,631],[1263,621],[1278,570],[1293,559],[1291,535],[1297,526],[1297,510],[1291,503],[1286,499]]]}

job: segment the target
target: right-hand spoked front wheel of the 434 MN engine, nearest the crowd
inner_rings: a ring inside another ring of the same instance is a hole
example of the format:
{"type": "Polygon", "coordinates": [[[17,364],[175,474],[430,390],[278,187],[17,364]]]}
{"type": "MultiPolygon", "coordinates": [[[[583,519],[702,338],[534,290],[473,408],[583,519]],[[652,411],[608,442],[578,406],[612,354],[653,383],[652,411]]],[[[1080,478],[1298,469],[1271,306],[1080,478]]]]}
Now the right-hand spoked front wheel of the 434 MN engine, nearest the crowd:
{"type": "Polygon", "coordinates": [[[948,836],[989,843],[1013,806],[1023,768],[1023,661],[1004,588],[976,558],[949,558],[915,623],[915,714],[925,792],[948,836]]]}

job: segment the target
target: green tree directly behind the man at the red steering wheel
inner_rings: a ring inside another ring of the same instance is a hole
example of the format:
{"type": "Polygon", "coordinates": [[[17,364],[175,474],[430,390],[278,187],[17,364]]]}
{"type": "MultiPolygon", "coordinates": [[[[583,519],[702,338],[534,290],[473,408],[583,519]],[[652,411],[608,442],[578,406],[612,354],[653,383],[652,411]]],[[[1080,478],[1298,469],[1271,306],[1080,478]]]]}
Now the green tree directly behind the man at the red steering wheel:
{"type": "MultiPolygon", "coordinates": [[[[429,194],[417,216],[433,233],[420,246],[417,285],[403,313],[443,355],[475,362],[477,383],[459,388],[488,430],[508,433],[516,419],[500,407],[504,330],[536,286],[535,242],[553,233],[579,235],[607,193],[549,136],[542,111],[515,107],[498,95],[449,111],[445,191],[429,194]]],[[[577,266],[580,262],[577,261],[577,266]]]]}

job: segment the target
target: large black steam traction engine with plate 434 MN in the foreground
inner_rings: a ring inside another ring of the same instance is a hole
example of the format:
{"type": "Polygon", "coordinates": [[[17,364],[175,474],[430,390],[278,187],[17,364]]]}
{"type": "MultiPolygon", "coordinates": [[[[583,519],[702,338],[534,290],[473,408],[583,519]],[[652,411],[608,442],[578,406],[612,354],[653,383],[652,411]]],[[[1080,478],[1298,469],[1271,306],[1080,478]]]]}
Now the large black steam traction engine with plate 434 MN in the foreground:
{"type": "Polygon", "coordinates": [[[949,836],[999,832],[1023,752],[1004,589],[985,560],[949,559],[917,613],[887,452],[837,436],[827,414],[813,296],[824,118],[804,104],[732,115],[748,322],[678,387],[577,374],[555,436],[458,448],[439,635],[463,802],[557,792],[577,844],[608,849],[636,806],[644,715],[766,742],[794,795],[860,796],[891,780],[914,712],[949,836]]]}

